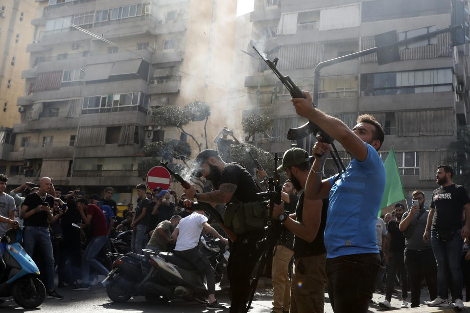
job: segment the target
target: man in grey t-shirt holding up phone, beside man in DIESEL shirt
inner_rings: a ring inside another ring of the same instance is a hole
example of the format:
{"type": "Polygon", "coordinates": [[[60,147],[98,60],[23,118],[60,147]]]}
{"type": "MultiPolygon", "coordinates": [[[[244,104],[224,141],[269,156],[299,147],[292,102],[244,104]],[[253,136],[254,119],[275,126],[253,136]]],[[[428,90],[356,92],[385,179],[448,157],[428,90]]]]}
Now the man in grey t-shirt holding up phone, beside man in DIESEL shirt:
{"type": "Polygon", "coordinates": [[[415,190],[411,194],[412,200],[418,205],[412,205],[410,211],[401,217],[400,231],[405,237],[405,265],[410,275],[411,307],[417,308],[421,303],[421,282],[426,286],[431,299],[437,297],[437,268],[436,259],[432,253],[431,243],[424,242],[423,233],[426,229],[426,220],[429,211],[424,208],[424,193],[415,190]]]}

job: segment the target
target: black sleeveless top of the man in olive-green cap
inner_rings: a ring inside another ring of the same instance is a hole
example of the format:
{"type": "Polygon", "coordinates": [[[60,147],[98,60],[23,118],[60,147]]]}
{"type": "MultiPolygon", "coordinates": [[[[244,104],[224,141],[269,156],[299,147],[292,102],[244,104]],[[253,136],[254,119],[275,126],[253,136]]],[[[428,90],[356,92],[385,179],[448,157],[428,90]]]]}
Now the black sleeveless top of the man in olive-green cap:
{"type": "MultiPolygon", "coordinates": [[[[297,207],[295,208],[295,216],[298,222],[302,223],[304,212],[304,191],[300,195],[297,207]]],[[[323,199],[322,203],[322,218],[320,226],[318,227],[318,233],[315,239],[309,243],[304,239],[294,236],[294,257],[301,258],[304,256],[321,255],[327,253],[325,243],[323,241],[323,235],[325,233],[325,225],[327,224],[327,212],[328,212],[328,199],[323,199]]]]}

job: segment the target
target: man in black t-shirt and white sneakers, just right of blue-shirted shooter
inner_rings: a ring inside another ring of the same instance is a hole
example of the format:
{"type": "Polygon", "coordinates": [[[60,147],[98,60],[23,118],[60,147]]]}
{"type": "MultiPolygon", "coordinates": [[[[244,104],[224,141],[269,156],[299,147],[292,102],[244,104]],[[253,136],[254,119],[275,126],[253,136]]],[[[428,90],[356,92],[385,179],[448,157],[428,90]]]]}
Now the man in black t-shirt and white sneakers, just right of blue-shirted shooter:
{"type": "Polygon", "coordinates": [[[385,291],[385,300],[379,302],[378,305],[382,308],[390,309],[390,301],[392,300],[393,285],[395,284],[395,275],[397,269],[400,270],[401,280],[401,306],[400,308],[408,308],[406,298],[408,298],[408,274],[405,267],[405,237],[399,229],[401,217],[403,216],[404,205],[402,203],[395,204],[396,220],[388,222],[388,235],[387,235],[387,287],[385,291]]]}

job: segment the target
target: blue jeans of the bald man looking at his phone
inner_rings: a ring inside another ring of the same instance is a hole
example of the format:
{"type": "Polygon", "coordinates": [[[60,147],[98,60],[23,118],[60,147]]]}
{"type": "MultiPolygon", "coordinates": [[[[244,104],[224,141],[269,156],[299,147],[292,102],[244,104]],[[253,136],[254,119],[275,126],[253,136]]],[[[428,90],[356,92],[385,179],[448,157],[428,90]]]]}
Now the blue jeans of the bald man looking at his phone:
{"type": "MultiPolygon", "coordinates": [[[[47,227],[26,226],[24,228],[24,251],[32,258],[34,247],[40,245],[41,252],[46,261],[47,290],[54,289],[54,252],[47,227]]],[[[35,261],[35,263],[38,263],[35,261]]]]}

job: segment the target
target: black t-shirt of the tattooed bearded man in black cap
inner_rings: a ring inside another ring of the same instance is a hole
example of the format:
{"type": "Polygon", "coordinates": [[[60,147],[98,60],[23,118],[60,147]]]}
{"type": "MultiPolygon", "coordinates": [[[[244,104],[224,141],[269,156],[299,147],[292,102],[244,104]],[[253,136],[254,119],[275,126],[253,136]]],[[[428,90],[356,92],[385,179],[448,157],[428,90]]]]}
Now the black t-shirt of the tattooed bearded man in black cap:
{"type": "MultiPolygon", "coordinates": [[[[238,163],[228,163],[220,176],[219,186],[223,183],[236,185],[234,196],[242,202],[258,201],[258,185],[251,174],[238,163]]],[[[218,189],[219,186],[215,186],[218,189]]]]}

